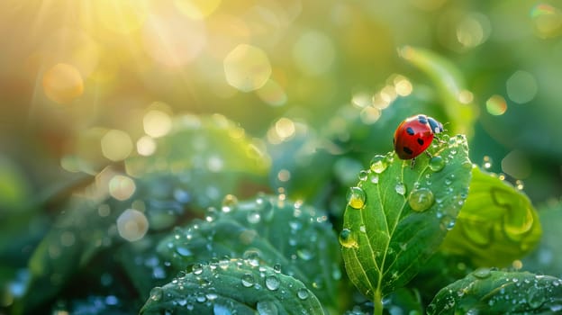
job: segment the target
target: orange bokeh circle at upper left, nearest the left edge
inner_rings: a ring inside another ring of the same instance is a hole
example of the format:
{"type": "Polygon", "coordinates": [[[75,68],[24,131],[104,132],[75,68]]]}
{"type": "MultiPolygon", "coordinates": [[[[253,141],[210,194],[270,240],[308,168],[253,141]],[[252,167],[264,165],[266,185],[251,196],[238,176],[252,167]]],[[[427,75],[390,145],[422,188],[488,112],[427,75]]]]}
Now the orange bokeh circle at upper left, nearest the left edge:
{"type": "Polygon", "coordinates": [[[43,91],[47,97],[60,104],[71,103],[84,93],[84,81],[76,67],[59,63],[43,74],[43,91]]]}

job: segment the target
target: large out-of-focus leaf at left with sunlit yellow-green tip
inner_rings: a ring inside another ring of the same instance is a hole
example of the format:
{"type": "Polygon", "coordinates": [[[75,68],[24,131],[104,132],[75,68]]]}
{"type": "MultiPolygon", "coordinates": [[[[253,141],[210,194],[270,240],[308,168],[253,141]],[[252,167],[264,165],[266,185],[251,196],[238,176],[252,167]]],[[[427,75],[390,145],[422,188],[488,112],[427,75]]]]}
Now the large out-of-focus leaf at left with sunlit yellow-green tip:
{"type": "MultiPolygon", "coordinates": [[[[40,307],[68,286],[72,275],[100,250],[121,245],[124,239],[117,220],[124,211],[140,213],[143,228],[169,229],[179,220],[191,219],[191,209],[220,204],[222,193],[242,186],[243,178],[248,179],[245,175],[265,182],[270,163],[243,129],[221,115],[181,116],[156,146],[150,157],[126,160],[126,173],[105,167],[95,181],[77,192],[79,197],[61,209],[32,253],[29,285],[22,299],[14,302],[16,313],[40,307]]],[[[131,219],[129,228],[133,231],[135,223],[131,219]]],[[[132,258],[123,264],[134,264],[132,258]]],[[[148,286],[146,282],[161,282],[163,278],[147,277],[135,285],[143,288],[148,286]]]]}

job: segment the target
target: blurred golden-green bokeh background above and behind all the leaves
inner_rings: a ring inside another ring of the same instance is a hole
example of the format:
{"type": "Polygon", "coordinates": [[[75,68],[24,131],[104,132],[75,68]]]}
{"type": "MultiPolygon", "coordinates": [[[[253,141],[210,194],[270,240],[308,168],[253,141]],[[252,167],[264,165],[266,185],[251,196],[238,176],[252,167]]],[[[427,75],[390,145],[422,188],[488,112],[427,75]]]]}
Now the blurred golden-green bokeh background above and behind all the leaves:
{"type": "Polygon", "coordinates": [[[61,191],[107,165],[150,157],[185,113],[235,121],[271,155],[261,187],[289,197],[328,203],[322,181],[356,180],[392,149],[397,123],[424,112],[469,133],[473,162],[491,161],[533,203],[558,200],[561,10],[507,0],[4,0],[0,220],[18,218],[14,229],[35,239],[16,244],[11,264],[25,266],[49,229],[34,213],[57,214],[61,191]],[[420,51],[431,52],[429,69],[420,51]],[[459,103],[470,115],[451,114],[459,103]]]}

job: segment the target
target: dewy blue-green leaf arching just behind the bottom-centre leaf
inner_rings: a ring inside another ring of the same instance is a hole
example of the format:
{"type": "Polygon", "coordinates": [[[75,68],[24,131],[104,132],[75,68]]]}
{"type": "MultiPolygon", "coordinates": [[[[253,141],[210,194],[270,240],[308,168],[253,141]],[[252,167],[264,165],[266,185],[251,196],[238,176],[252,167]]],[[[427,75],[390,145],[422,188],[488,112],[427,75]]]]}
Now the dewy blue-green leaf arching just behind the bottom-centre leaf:
{"type": "Polygon", "coordinates": [[[174,229],[157,250],[177,272],[224,256],[253,257],[279,266],[323,305],[338,309],[340,250],[326,213],[284,195],[260,194],[240,202],[227,195],[221,210],[211,208],[205,220],[174,229]]]}

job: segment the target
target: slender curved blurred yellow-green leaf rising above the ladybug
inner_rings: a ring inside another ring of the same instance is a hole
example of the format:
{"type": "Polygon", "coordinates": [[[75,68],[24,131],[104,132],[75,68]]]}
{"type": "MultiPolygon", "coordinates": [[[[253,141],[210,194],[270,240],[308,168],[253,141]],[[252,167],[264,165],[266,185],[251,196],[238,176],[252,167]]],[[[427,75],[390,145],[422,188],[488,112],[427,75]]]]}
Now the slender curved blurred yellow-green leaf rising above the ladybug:
{"type": "Polygon", "coordinates": [[[450,131],[472,137],[477,109],[458,67],[429,49],[404,46],[399,52],[402,58],[425,72],[437,87],[441,107],[451,122],[450,131]]]}

